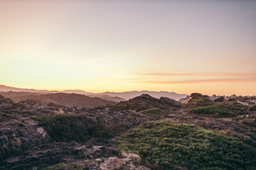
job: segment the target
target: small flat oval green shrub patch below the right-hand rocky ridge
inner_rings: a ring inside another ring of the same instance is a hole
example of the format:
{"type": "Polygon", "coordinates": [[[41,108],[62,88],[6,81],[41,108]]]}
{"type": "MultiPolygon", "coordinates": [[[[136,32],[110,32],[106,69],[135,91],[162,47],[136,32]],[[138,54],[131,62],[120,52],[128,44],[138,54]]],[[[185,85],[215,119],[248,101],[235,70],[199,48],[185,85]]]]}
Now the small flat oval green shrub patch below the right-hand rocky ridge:
{"type": "Polygon", "coordinates": [[[230,118],[235,115],[235,108],[225,105],[213,105],[200,108],[192,108],[189,113],[196,113],[198,115],[212,115],[213,117],[230,118]]]}

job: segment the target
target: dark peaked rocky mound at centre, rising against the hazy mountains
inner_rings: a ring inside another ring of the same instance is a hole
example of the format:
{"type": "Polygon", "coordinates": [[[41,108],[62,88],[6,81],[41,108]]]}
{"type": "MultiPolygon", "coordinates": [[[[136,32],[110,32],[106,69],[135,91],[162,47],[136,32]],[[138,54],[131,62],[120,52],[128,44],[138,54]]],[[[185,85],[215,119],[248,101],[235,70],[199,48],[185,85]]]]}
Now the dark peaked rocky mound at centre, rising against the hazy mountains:
{"type": "Polygon", "coordinates": [[[171,98],[161,97],[160,99],[149,96],[148,94],[142,94],[136,98],[129,99],[129,101],[122,101],[116,106],[112,107],[114,111],[134,110],[144,111],[149,108],[160,108],[164,111],[175,110],[181,108],[182,103],[175,101],[171,98]]]}

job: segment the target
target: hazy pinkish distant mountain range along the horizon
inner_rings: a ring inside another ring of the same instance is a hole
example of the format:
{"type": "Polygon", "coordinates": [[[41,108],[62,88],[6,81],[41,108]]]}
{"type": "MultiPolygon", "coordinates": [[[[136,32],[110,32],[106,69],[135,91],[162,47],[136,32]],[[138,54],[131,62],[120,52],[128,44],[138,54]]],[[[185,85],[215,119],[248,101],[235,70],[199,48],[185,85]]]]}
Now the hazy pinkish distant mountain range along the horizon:
{"type": "Polygon", "coordinates": [[[188,96],[187,94],[176,94],[174,92],[168,91],[124,91],[124,92],[104,92],[104,93],[91,93],[82,90],[65,90],[65,91],[47,91],[47,90],[36,90],[36,89],[21,89],[11,86],[4,86],[0,85],[0,91],[7,92],[7,91],[15,91],[15,92],[33,92],[33,93],[43,93],[43,94],[55,94],[55,93],[65,93],[65,94],[82,94],[85,96],[89,96],[91,98],[102,98],[107,101],[126,101],[130,98],[134,98],[140,96],[142,94],[149,94],[154,98],[168,97],[173,98],[174,100],[178,100],[180,98],[185,98],[188,96]]]}

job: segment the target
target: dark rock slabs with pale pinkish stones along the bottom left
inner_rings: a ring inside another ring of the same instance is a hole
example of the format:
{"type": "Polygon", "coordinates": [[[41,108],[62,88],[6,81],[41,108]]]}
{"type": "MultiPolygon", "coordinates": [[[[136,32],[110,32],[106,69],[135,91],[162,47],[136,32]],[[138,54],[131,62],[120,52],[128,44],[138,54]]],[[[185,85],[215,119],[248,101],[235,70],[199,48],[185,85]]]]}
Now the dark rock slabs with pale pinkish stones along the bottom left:
{"type": "Polygon", "coordinates": [[[59,162],[79,164],[83,169],[137,169],[149,170],[141,166],[137,154],[119,153],[114,140],[92,138],[88,142],[57,142],[33,147],[16,157],[0,162],[0,169],[42,169],[59,162]]]}

